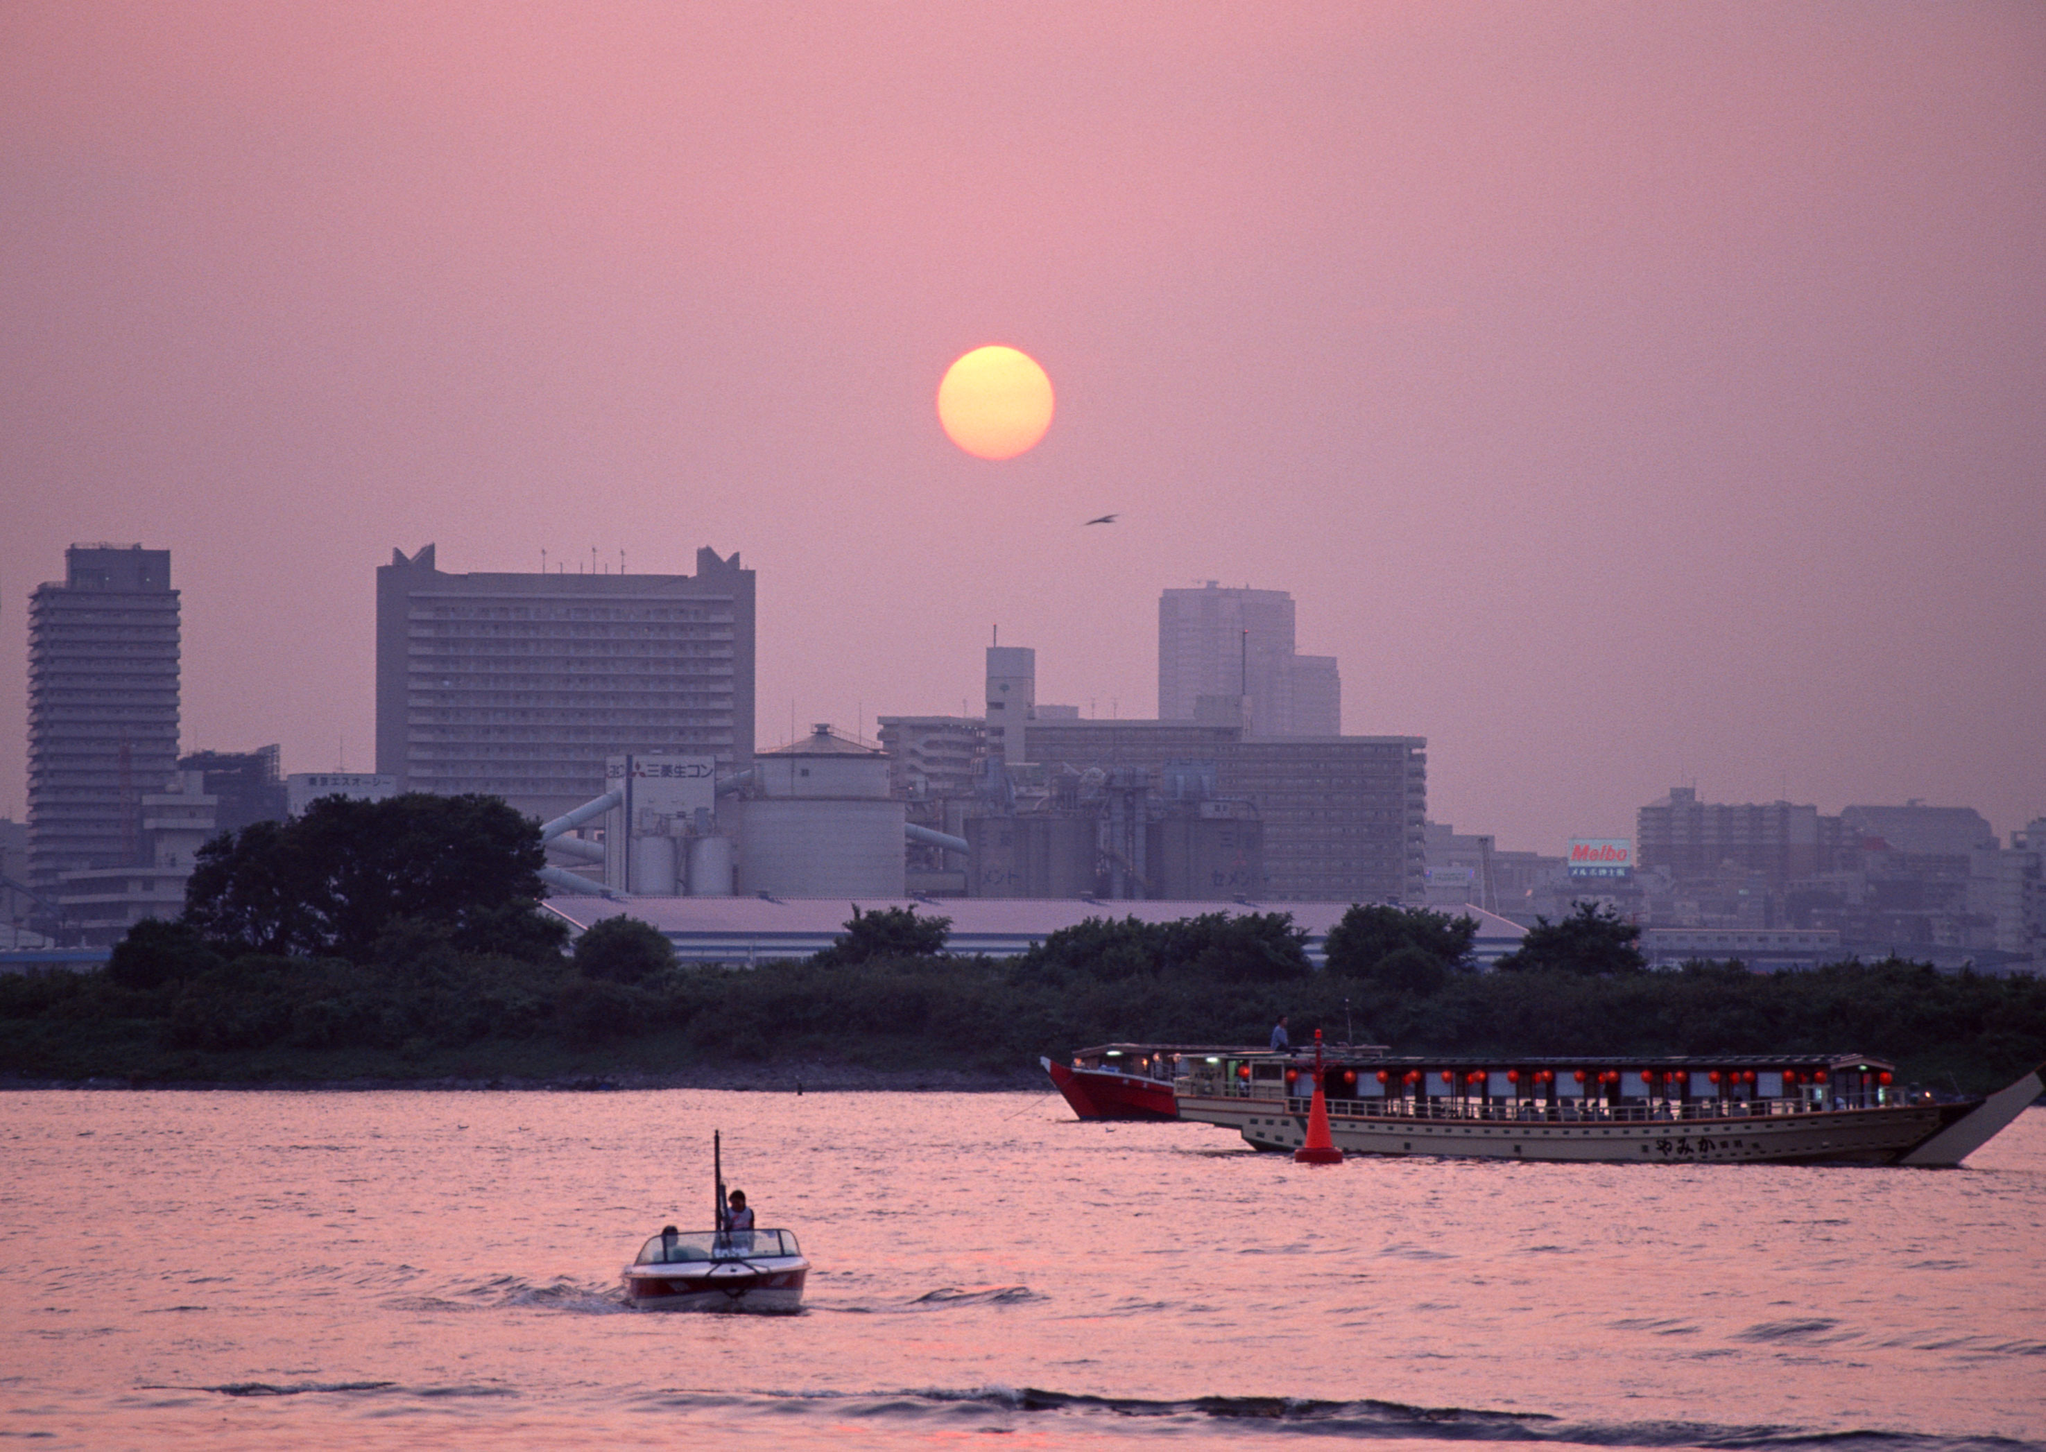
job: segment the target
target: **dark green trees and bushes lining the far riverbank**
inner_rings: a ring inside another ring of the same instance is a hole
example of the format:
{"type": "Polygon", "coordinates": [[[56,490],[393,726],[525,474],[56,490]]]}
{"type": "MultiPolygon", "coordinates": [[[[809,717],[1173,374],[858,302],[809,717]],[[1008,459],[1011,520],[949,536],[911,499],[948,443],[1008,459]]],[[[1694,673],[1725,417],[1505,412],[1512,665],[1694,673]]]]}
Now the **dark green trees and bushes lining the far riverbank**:
{"type": "Polygon", "coordinates": [[[321,804],[288,828],[223,838],[186,916],[137,926],[106,973],[0,980],[0,1070],[96,1074],[125,1055],[141,1074],[205,1078],[194,1065],[233,1055],[383,1053],[364,1063],[403,1072],[511,1045],[644,1068],[841,1057],[1021,1072],[1115,1039],[1262,1043],[1281,1012],[1295,1041],[1354,1025],[1359,1041],[1410,1053],[1837,1049],[1968,1088],[2046,1059],[2036,980],[1899,961],[1651,973],[1631,924],[1596,908],[1539,922],[1492,973],[1471,961],[1469,918],[1387,906],[1342,918],[1326,971],[1285,912],[1099,916],[982,959],[949,953],[949,920],[913,908],[853,910],[827,951],[735,971],[677,965],[659,931],[626,916],[565,955],[536,867],[530,822],[460,798],[321,804]]]}

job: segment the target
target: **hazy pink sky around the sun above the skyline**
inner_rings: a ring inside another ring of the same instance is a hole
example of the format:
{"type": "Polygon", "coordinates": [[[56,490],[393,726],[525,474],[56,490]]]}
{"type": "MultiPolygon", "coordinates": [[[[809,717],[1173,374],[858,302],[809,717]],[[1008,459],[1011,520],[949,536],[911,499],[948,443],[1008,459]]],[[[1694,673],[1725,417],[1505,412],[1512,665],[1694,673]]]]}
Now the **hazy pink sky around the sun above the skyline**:
{"type": "Polygon", "coordinates": [[[372,765],[393,546],[710,544],[763,744],[958,712],[996,622],[1150,716],[1219,579],[1504,847],[2046,814],[2032,0],[10,0],[0,368],[14,816],[74,540],[172,550],[186,742],[286,771],[372,765]],[[933,411],[990,342],[1058,389],[1000,464],[933,411]]]}

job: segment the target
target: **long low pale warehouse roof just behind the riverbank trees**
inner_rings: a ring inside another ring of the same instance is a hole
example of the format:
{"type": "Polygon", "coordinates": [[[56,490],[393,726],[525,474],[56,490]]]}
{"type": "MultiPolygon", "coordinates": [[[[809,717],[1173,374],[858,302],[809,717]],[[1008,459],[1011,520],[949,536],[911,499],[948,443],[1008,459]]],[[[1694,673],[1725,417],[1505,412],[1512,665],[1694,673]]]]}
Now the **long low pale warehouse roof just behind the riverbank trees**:
{"type": "MultiPolygon", "coordinates": [[[[1091,898],[548,898],[546,906],[567,918],[577,931],[604,918],[638,918],[651,922],[675,945],[683,963],[763,963],[777,957],[808,957],[831,947],[845,933],[845,920],[857,906],[861,912],[880,908],[915,908],[933,918],[951,918],[953,953],[986,953],[1013,957],[1041,943],[1058,928],[1070,928],[1086,918],[1138,918],[1140,922],[1174,922],[1205,912],[1291,912],[1293,922],[1307,928],[1307,957],[1322,961],[1328,931],[1350,910],[1348,902],[1107,902],[1091,898]]],[[[1526,933],[1518,922],[1461,908],[1477,918],[1473,945],[1479,963],[1489,967],[1500,955],[1520,947],[1526,933]]]]}

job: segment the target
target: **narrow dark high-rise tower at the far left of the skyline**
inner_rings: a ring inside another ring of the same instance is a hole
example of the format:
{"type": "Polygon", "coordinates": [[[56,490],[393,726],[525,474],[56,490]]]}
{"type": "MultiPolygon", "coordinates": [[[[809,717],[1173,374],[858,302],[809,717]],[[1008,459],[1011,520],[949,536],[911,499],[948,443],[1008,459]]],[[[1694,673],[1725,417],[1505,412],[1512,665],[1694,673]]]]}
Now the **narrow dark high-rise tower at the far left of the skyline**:
{"type": "Polygon", "coordinates": [[[29,597],[29,881],[139,865],[178,767],[170,550],[74,544],[29,597]]]}

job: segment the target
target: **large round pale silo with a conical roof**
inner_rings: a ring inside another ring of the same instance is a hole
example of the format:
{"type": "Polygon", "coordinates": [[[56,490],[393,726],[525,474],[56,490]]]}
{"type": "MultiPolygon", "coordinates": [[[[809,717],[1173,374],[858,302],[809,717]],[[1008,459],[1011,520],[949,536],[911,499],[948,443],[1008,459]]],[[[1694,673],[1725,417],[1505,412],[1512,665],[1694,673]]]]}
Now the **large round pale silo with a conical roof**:
{"type": "Polygon", "coordinates": [[[900,898],[902,802],[888,755],[816,726],[753,759],[745,796],[726,802],[739,838],[737,888],[777,898],[900,898]]]}

